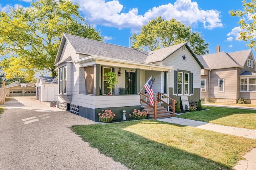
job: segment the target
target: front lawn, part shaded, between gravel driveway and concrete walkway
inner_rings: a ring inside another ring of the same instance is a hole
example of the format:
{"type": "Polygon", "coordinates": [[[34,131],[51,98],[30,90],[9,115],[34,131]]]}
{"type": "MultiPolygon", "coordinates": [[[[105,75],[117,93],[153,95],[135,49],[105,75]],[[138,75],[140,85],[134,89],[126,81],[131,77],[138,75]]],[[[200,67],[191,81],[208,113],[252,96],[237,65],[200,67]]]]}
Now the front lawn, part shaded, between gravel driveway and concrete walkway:
{"type": "Polygon", "coordinates": [[[230,170],[256,147],[254,139],[149,119],[72,129],[133,170],[230,170]]]}

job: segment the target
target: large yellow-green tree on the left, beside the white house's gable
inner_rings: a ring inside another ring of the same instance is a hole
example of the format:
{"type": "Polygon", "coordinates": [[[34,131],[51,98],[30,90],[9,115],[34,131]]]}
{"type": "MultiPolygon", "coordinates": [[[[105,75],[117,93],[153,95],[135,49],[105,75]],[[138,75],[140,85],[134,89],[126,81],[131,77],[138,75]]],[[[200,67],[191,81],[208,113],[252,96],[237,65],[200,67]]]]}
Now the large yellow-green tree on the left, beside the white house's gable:
{"type": "Polygon", "coordinates": [[[98,41],[103,38],[80,16],[71,0],[37,0],[28,9],[0,12],[0,55],[6,78],[32,80],[35,72],[55,76],[54,61],[63,33],[98,41]]]}

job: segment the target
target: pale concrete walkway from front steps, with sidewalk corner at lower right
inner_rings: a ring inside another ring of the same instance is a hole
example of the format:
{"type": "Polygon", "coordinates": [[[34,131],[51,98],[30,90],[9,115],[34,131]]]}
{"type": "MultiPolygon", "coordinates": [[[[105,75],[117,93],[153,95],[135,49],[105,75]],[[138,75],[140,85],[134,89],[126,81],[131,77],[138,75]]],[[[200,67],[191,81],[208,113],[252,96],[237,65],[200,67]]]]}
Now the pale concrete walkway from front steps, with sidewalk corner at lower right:
{"type": "MultiPolygon", "coordinates": [[[[182,119],[178,117],[170,117],[170,118],[164,118],[164,119],[158,119],[158,120],[168,122],[168,123],[206,129],[209,131],[216,131],[220,133],[256,139],[256,130],[251,130],[251,129],[216,125],[212,123],[194,121],[190,119],[182,119]]],[[[235,170],[256,170],[256,148],[252,149],[249,153],[247,153],[244,156],[244,158],[246,158],[246,160],[240,160],[238,164],[234,167],[234,169],[235,170]]]]}

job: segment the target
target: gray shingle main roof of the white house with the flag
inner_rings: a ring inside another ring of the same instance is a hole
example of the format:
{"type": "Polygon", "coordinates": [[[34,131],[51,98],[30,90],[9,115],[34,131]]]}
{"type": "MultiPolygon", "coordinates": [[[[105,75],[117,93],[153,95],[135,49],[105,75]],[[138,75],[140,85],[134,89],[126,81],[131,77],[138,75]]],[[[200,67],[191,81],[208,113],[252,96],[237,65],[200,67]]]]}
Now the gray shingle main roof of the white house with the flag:
{"type": "Polygon", "coordinates": [[[122,59],[126,61],[133,61],[138,63],[154,63],[157,61],[163,61],[166,57],[170,56],[176,50],[180,49],[183,45],[189,49],[190,53],[196,59],[198,64],[203,68],[200,61],[194,55],[193,51],[188,47],[187,43],[181,43],[178,45],[173,45],[163,49],[155,51],[141,51],[138,49],[132,49],[128,47],[123,47],[119,45],[113,45],[109,43],[104,43],[101,41],[96,41],[88,38],[78,37],[76,35],[70,35],[64,33],[63,39],[61,41],[57,57],[55,59],[55,64],[67,61],[69,58],[62,59],[60,61],[61,53],[64,47],[65,39],[70,42],[76,53],[88,55],[88,56],[99,56],[99,57],[109,57],[112,59],[122,59]]]}

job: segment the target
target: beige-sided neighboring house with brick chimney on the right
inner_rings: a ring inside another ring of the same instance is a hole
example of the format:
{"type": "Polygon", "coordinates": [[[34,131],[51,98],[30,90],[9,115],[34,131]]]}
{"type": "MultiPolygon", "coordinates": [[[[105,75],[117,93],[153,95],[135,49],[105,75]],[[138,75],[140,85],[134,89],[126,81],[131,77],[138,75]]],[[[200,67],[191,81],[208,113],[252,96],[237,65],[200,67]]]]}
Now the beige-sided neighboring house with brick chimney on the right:
{"type": "Polygon", "coordinates": [[[232,53],[220,52],[197,56],[201,70],[202,101],[236,103],[244,98],[248,104],[256,104],[256,65],[251,50],[232,53]]]}

